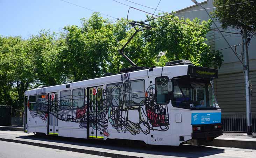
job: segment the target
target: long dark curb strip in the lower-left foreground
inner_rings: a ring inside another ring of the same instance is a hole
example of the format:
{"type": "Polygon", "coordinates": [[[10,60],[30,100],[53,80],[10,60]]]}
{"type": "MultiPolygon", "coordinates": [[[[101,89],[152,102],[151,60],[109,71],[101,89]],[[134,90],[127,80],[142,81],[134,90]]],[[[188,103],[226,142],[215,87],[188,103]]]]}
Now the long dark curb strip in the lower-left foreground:
{"type": "Polygon", "coordinates": [[[21,141],[21,140],[16,140],[16,139],[0,138],[0,141],[21,143],[21,144],[27,144],[27,145],[40,146],[40,147],[44,147],[44,148],[80,152],[80,153],[86,153],[86,154],[98,155],[98,156],[105,156],[105,157],[112,157],[112,158],[144,158],[144,157],[137,157],[137,156],[122,155],[122,154],[117,154],[117,153],[109,153],[109,152],[101,152],[101,151],[94,151],[94,150],[87,150],[87,149],[70,148],[70,147],[59,146],[59,145],[27,142],[27,141],[21,141]]]}

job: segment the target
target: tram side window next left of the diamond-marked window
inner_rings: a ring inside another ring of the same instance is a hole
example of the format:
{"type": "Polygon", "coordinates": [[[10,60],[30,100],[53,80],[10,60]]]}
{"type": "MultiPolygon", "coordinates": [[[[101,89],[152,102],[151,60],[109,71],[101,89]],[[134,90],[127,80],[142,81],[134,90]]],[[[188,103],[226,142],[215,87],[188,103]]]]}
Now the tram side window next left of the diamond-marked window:
{"type": "Polygon", "coordinates": [[[141,106],[145,103],[145,81],[135,80],[125,82],[126,106],[141,106]]]}

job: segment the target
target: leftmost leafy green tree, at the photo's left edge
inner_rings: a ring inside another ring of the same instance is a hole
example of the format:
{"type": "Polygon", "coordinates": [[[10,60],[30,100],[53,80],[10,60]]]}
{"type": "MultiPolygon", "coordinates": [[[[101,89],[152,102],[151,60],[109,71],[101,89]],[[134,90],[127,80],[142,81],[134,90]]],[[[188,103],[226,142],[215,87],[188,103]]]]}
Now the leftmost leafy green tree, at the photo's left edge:
{"type": "Polygon", "coordinates": [[[21,37],[0,37],[0,102],[17,107],[17,100],[34,82],[34,66],[27,41],[21,37]]]}

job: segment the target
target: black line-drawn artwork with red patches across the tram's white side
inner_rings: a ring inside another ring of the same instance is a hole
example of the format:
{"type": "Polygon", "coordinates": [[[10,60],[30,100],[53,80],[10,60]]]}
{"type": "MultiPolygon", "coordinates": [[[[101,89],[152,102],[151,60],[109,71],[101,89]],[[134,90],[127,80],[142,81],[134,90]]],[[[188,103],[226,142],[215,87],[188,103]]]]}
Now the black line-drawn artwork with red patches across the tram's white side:
{"type": "MultiPolygon", "coordinates": [[[[80,128],[87,128],[90,122],[89,127],[101,131],[105,136],[109,136],[107,130],[109,125],[118,132],[128,131],[132,135],[141,132],[149,134],[151,130],[168,130],[168,108],[160,108],[156,103],[155,85],[150,85],[145,92],[140,91],[137,86],[140,81],[143,80],[131,81],[129,73],[122,74],[121,82],[106,85],[106,89],[89,89],[87,94],[89,96],[85,94],[80,108],[72,108],[71,99],[64,102],[59,101],[62,99],[58,98],[57,105],[60,106],[50,107],[49,113],[62,121],[77,122],[80,128]],[[87,110],[89,110],[88,116],[87,110]]],[[[84,94],[84,92],[79,93],[84,94]]],[[[73,106],[76,105],[75,102],[76,99],[73,99],[73,106]]],[[[46,122],[47,110],[47,101],[45,101],[38,103],[37,110],[30,110],[30,114],[33,118],[40,117],[46,122]]]]}

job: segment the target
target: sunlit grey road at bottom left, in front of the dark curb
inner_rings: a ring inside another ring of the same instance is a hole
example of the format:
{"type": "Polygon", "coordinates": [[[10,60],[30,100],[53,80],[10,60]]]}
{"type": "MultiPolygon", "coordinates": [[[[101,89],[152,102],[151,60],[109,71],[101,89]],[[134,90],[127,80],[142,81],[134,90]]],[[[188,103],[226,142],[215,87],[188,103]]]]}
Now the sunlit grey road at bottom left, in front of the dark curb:
{"type": "Polygon", "coordinates": [[[0,141],[0,158],[105,158],[85,153],[0,141]]]}

